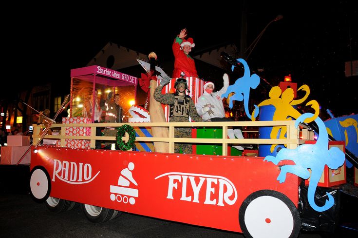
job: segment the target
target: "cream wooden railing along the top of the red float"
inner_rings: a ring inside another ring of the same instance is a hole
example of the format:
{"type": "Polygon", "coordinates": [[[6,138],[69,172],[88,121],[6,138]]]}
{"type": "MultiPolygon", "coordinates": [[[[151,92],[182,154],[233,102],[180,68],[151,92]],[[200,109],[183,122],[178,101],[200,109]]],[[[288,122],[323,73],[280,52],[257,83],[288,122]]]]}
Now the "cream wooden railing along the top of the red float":
{"type": "MultiPolygon", "coordinates": [[[[299,138],[299,128],[295,128],[295,120],[282,121],[233,121],[233,122],[143,122],[143,123],[81,123],[81,124],[53,124],[51,128],[59,128],[60,135],[46,135],[44,139],[60,139],[61,147],[65,146],[65,139],[88,139],[91,140],[91,148],[95,147],[95,140],[115,140],[115,137],[95,136],[96,127],[119,127],[124,124],[129,124],[135,127],[167,127],[169,128],[169,138],[155,138],[155,137],[136,137],[136,141],[159,141],[169,143],[169,152],[174,153],[175,142],[185,143],[209,143],[220,144],[223,146],[223,155],[227,155],[227,144],[287,144],[287,148],[295,149],[299,144],[303,143],[299,138]],[[286,139],[227,139],[228,127],[262,127],[262,126],[280,126],[286,127],[286,139]],[[66,127],[90,127],[90,136],[66,136],[66,127]],[[195,127],[195,128],[223,128],[223,139],[203,139],[203,138],[174,138],[174,128],[176,127],[195,127]]],[[[34,142],[36,145],[40,139],[41,125],[34,124],[34,142]]],[[[43,125],[42,125],[43,126],[43,125]]],[[[309,135],[304,132],[302,135],[309,135]]],[[[306,137],[306,136],[305,136],[306,137]]],[[[128,140],[128,134],[122,137],[124,141],[128,140]]],[[[308,139],[308,138],[303,138],[308,139]]]]}

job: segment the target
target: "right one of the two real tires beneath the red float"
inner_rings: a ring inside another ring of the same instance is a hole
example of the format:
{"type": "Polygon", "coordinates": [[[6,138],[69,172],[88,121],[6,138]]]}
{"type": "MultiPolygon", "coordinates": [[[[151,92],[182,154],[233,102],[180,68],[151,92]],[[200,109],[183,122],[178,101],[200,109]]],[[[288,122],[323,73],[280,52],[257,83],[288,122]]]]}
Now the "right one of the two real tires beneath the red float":
{"type": "Polygon", "coordinates": [[[93,223],[102,223],[110,219],[113,219],[118,215],[117,214],[116,216],[113,217],[113,213],[115,210],[105,207],[97,207],[88,204],[81,204],[81,208],[86,218],[93,223]]]}

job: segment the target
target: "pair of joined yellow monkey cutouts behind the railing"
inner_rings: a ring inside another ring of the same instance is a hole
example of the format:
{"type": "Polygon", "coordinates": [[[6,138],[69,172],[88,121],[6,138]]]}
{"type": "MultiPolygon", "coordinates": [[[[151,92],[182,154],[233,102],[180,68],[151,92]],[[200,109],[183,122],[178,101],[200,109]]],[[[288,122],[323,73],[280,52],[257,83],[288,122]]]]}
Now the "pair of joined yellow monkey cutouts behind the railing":
{"type": "MultiPolygon", "coordinates": [[[[271,88],[271,90],[268,94],[270,99],[264,100],[258,106],[273,105],[275,107],[275,113],[273,115],[272,120],[291,120],[291,117],[294,119],[297,119],[301,116],[301,113],[299,113],[293,107],[293,105],[298,105],[298,104],[302,103],[305,99],[308,98],[308,95],[310,93],[310,89],[307,85],[302,85],[299,88],[299,90],[303,90],[306,92],[306,94],[304,95],[304,97],[302,99],[293,100],[294,93],[293,93],[292,88],[287,88],[286,90],[284,90],[284,92],[282,93],[281,98],[280,98],[280,94],[281,94],[282,90],[279,86],[275,86],[275,87],[271,88]]],[[[314,121],[320,113],[320,106],[316,100],[311,100],[306,103],[306,106],[309,106],[309,105],[311,105],[311,107],[315,110],[315,114],[312,118],[305,119],[304,120],[305,123],[314,121]]],[[[254,112],[252,114],[251,119],[255,120],[253,115],[254,115],[254,112]]],[[[270,138],[276,139],[277,134],[280,131],[280,129],[281,129],[281,132],[279,135],[279,139],[284,139],[285,138],[284,135],[287,132],[287,128],[285,126],[272,127],[270,138]]],[[[273,150],[276,146],[277,146],[277,144],[271,145],[271,149],[270,149],[271,153],[273,152],[273,150]]],[[[287,145],[285,144],[284,146],[287,146],[287,145]]]]}

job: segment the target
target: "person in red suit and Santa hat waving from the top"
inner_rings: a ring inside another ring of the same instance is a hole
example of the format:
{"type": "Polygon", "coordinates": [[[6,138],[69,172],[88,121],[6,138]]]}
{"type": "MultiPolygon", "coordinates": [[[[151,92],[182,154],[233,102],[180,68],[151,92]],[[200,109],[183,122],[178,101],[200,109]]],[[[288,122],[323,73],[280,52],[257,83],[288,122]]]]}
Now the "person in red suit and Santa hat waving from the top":
{"type": "Polygon", "coordinates": [[[180,31],[180,34],[175,38],[173,42],[173,54],[174,54],[174,71],[172,78],[181,78],[181,72],[184,72],[186,77],[198,77],[196,72],[194,59],[189,56],[191,48],[195,46],[192,38],[185,40],[187,36],[187,29],[180,31]]]}

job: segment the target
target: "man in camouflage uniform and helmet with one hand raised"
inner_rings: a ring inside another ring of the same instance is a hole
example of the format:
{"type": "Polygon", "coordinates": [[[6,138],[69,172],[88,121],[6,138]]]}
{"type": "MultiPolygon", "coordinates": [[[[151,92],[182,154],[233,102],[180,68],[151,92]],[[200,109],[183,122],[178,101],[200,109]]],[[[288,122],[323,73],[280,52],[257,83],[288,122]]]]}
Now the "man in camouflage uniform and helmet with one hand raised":
{"type": "MultiPolygon", "coordinates": [[[[170,107],[170,122],[188,122],[189,116],[194,121],[201,122],[202,119],[196,111],[193,100],[185,94],[188,90],[187,79],[179,78],[175,80],[175,93],[162,94],[163,87],[170,82],[170,77],[166,76],[154,91],[154,99],[170,107]]],[[[174,128],[174,137],[191,138],[191,127],[174,128]]],[[[192,154],[191,144],[175,143],[174,152],[180,153],[180,147],[184,154],[192,154]]]]}

